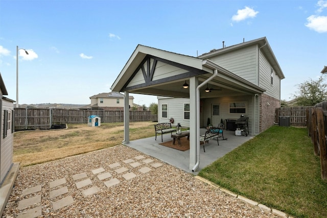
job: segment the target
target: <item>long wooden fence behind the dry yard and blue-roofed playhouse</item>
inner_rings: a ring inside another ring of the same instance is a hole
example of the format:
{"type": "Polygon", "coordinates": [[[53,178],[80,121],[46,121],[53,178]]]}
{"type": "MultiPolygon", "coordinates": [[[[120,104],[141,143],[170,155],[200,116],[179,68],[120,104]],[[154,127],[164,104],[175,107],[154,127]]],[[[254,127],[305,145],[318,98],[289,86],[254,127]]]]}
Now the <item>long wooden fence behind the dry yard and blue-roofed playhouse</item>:
{"type": "MultiPolygon", "coordinates": [[[[90,115],[98,115],[101,123],[124,122],[124,111],[108,110],[78,110],[57,108],[15,108],[14,130],[51,129],[59,124],[84,124],[90,115]]],[[[157,115],[151,111],[129,111],[131,122],[157,120],[157,115]]]]}

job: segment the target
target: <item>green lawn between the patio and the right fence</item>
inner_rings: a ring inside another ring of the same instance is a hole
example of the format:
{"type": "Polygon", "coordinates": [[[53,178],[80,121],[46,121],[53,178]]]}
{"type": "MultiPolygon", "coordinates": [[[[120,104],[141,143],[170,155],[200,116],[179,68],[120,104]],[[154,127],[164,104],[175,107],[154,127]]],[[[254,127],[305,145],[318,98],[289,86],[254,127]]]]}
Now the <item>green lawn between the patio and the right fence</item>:
{"type": "Polygon", "coordinates": [[[295,217],[327,217],[327,181],[306,128],[273,126],[199,176],[295,217]]]}

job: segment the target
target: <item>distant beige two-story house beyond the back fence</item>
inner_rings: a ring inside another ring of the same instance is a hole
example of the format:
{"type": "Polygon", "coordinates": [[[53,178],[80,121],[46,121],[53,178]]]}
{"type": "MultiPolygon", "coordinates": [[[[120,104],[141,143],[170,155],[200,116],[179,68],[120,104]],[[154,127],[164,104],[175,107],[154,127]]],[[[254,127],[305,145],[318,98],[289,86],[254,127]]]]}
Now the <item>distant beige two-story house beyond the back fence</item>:
{"type": "MultiPolygon", "coordinates": [[[[124,110],[124,94],[119,92],[105,92],[90,96],[91,104],[87,106],[91,110],[124,110]]],[[[133,103],[134,97],[129,96],[130,110],[143,110],[142,106],[133,103]]]]}

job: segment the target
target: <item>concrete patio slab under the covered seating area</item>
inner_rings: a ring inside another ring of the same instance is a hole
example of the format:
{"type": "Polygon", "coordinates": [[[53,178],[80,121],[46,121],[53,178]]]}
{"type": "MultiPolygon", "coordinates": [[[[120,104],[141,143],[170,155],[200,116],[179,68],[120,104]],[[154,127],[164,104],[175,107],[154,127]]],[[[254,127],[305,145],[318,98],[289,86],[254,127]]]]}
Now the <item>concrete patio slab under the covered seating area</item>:
{"type": "MultiPolygon", "coordinates": [[[[206,129],[201,128],[200,133],[204,134],[205,130],[206,129]]],[[[169,133],[164,134],[163,138],[164,142],[172,140],[169,133]]],[[[236,136],[235,131],[224,130],[224,138],[227,138],[227,140],[220,140],[219,146],[216,140],[209,140],[209,143],[205,144],[205,152],[203,152],[203,146],[200,146],[200,165],[198,170],[193,174],[197,175],[202,168],[213,163],[215,160],[224,156],[233,149],[241,146],[241,144],[250,140],[253,136],[236,136]]],[[[125,145],[177,168],[183,169],[186,172],[192,173],[192,170],[189,169],[190,150],[179,151],[166,146],[161,146],[159,143],[161,143],[160,135],[157,137],[157,140],[155,140],[155,137],[153,136],[150,138],[130,141],[130,143],[125,145]]]]}

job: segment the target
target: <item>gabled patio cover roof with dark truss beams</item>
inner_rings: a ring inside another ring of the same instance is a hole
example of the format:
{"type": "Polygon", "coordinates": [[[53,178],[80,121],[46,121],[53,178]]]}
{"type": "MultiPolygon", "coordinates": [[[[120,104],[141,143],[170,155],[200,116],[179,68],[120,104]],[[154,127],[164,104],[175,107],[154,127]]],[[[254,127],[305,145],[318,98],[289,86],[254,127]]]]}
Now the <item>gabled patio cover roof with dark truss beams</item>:
{"type": "MultiPolygon", "coordinates": [[[[182,84],[184,82],[190,84],[190,78],[193,77],[197,77],[199,83],[202,83],[213,75],[215,69],[219,71],[219,74],[209,84],[211,88],[222,89],[219,93],[215,92],[215,96],[255,94],[266,91],[210,60],[140,44],[136,46],[110,89],[115,92],[128,91],[137,94],[190,98],[189,89],[183,89],[182,84]],[[156,66],[157,63],[159,66],[156,66]]],[[[200,89],[200,92],[204,93],[204,89],[205,87],[200,89]]]]}

